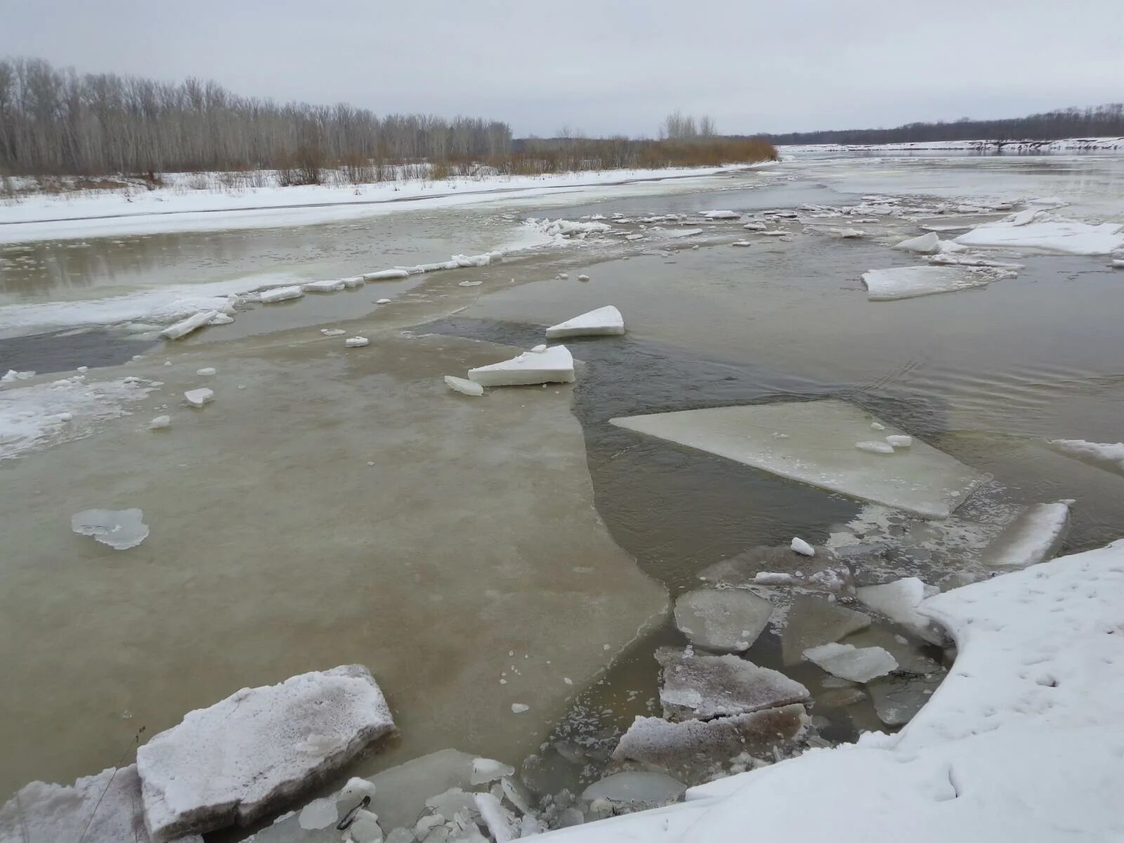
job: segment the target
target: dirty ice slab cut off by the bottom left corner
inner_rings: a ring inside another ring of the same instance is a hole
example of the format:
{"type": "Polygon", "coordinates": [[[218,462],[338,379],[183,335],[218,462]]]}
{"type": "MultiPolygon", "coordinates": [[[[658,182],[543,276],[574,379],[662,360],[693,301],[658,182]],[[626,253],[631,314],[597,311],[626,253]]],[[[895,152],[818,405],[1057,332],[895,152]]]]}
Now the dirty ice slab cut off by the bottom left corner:
{"type": "MultiPolygon", "coordinates": [[[[73,785],[33,781],[0,808],[0,843],[148,843],[136,764],[73,785]]],[[[180,837],[178,843],[202,843],[180,837]]]]}

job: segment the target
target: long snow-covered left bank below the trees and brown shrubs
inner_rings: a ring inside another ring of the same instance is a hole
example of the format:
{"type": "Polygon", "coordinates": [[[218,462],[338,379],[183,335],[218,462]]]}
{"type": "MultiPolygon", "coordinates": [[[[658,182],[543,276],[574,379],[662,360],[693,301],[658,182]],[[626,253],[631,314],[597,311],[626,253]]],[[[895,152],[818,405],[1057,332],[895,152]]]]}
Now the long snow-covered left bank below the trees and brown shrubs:
{"type": "Polygon", "coordinates": [[[360,185],[264,187],[229,192],[191,190],[187,187],[190,174],[173,173],[165,176],[171,187],[157,190],[37,193],[15,202],[0,202],[0,244],[335,223],[582,189],[597,189],[602,194],[608,187],[636,181],[707,176],[738,169],[749,167],[606,170],[360,185]]]}

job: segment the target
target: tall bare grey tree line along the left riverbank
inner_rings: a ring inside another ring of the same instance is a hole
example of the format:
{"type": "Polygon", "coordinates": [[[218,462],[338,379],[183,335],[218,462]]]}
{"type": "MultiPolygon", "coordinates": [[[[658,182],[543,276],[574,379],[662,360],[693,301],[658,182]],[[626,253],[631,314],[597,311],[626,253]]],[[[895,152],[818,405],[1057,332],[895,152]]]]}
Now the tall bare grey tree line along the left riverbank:
{"type": "MultiPolygon", "coordinates": [[[[0,60],[0,171],[20,175],[278,169],[487,158],[506,123],[378,117],[346,103],[279,105],[215,82],[78,74],[38,58],[0,60]]],[[[309,172],[305,172],[309,171],[309,172]]]]}

